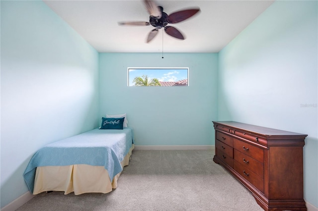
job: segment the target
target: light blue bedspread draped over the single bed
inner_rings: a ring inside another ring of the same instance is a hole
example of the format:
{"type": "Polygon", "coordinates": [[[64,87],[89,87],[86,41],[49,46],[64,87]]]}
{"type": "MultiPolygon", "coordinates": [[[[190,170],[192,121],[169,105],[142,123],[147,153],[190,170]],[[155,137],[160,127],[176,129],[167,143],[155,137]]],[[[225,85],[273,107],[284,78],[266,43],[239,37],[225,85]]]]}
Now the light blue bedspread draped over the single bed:
{"type": "Polygon", "coordinates": [[[133,144],[131,128],[123,130],[94,129],[77,136],[46,145],[31,158],[23,178],[33,193],[36,167],[88,164],[104,166],[109,178],[120,173],[120,162],[133,144]]]}

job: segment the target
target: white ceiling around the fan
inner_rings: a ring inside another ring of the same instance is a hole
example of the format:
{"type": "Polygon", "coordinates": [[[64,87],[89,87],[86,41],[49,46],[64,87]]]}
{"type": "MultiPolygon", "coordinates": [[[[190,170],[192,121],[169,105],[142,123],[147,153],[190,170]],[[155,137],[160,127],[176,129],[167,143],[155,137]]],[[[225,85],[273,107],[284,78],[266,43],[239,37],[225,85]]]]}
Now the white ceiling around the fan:
{"type": "Polygon", "coordinates": [[[120,21],[149,21],[142,0],[44,2],[100,53],[161,53],[162,44],[164,53],[217,53],[273,0],[156,0],[168,15],[191,7],[201,11],[183,22],[168,24],[181,31],[185,40],[172,38],[161,29],[148,44],[153,26],[118,25],[120,21]]]}

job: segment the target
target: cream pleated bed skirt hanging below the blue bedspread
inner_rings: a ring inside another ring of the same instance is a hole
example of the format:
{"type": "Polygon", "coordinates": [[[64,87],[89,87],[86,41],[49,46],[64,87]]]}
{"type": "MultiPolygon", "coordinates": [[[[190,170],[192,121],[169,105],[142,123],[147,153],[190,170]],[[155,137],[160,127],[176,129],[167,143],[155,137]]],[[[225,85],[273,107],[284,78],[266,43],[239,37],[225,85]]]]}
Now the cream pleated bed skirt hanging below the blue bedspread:
{"type": "MultiPolygon", "coordinates": [[[[129,164],[134,145],[121,162],[121,166],[129,164]]],[[[108,171],[104,166],[76,164],[67,166],[42,166],[36,168],[33,194],[44,191],[64,191],[64,194],[74,192],[75,195],[83,193],[109,193],[117,187],[118,173],[110,181],[108,171]]]]}

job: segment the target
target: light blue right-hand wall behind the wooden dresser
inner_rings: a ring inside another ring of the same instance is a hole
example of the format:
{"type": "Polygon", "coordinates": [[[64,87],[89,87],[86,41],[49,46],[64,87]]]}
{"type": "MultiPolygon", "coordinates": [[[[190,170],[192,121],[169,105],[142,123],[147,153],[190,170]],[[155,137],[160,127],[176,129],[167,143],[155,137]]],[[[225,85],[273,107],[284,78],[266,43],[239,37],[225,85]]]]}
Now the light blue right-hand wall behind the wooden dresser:
{"type": "Polygon", "coordinates": [[[219,53],[218,99],[219,120],[308,134],[305,200],[316,207],[317,3],[276,1],[224,48],[219,53]]]}

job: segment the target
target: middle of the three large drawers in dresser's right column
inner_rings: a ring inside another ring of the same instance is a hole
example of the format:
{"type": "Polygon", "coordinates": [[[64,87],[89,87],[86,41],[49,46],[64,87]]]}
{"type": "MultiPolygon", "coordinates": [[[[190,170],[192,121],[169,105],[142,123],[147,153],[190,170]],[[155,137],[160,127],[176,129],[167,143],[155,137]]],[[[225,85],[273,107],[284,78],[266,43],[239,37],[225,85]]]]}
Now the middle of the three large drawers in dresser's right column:
{"type": "Polygon", "coordinates": [[[261,178],[264,178],[264,165],[263,163],[251,158],[238,150],[234,150],[234,159],[237,160],[241,165],[252,170],[261,178]]]}

